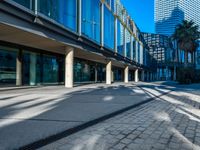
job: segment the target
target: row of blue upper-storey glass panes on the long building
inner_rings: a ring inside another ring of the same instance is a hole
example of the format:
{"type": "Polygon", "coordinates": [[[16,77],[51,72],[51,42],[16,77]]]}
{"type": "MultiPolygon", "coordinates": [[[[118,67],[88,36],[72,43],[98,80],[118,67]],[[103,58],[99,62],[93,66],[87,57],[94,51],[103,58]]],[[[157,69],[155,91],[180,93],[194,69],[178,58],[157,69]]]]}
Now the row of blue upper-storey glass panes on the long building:
{"type": "MultiPolygon", "coordinates": [[[[35,9],[35,1],[13,1],[31,10],[35,9]]],[[[102,38],[101,30],[103,29],[103,45],[106,48],[115,51],[116,45],[118,54],[129,59],[134,58],[131,56],[131,54],[134,54],[134,52],[131,52],[131,42],[133,42],[131,41],[131,37],[138,31],[120,1],[106,0],[105,2],[101,2],[100,0],[81,0],[81,4],[79,4],[78,0],[37,0],[36,7],[39,15],[44,15],[77,33],[79,28],[78,14],[81,10],[80,24],[83,36],[100,44],[102,38]],[[81,5],[81,9],[79,9],[79,5],[81,5]],[[103,12],[102,7],[104,7],[103,12]],[[115,18],[117,20],[116,42],[115,18]]]]}

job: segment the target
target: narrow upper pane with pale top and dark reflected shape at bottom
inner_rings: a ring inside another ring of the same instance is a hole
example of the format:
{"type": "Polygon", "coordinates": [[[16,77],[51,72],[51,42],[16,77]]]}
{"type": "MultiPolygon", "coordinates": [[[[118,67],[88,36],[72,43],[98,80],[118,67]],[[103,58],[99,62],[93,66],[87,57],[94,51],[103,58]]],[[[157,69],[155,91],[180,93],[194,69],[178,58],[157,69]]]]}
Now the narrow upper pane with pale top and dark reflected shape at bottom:
{"type": "Polygon", "coordinates": [[[122,26],[120,21],[117,20],[117,51],[120,55],[124,55],[123,49],[124,49],[124,27],[122,26]]]}

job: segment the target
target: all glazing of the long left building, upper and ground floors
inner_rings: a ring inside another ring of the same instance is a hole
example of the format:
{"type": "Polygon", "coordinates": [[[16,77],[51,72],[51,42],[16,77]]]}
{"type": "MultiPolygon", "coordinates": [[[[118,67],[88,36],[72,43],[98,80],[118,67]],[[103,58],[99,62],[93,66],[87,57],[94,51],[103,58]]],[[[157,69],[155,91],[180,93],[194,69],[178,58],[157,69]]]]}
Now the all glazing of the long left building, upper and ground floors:
{"type": "MultiPolygon", "coordinates": [[[[29,9],[32,15],[37,15],[42,21],[44,19],[55,27],[67,29],[69,33],[84,37],[99,47],[103,45],[105,50],[110,50],[113,56],[120,56],[120,59],[123,59],[121,61],[128,58],[128,63],[131,63],[136,61],[136,57],[139,60],[140,45],[135,44],[139,43],[139,39],[134,38],[137,37],[136,33],[139,30],[134,26],[133,20],[120,1],[81,0],[80,3],[79,0],[37,0],[36,3],[35,0],[10,0],[9,3],[15,4],[13,5],[15,7],[21,5],[20,9],[29,9]]],[[[18,47],[17,49],[1,47],[1,84],[16,83],[16,60],[19,51],[22,51],[23,85],[63,84],[65,82],[64,54],[56,54],[56,50],[54,53],[48,52],[50,51],[48,48],[45,50],[41,48],[37,51],[28,46],[28,49],[20,49],[20,46],[14,46],[18,47]]],[[[139,63],[142,64],[142,61],[139,63]]],[[[104,63],[75,58],[74,82],[104,82],[106,80],[104,63]]],[[[123,76],[123,68],[113,70],[114,80],[122,81],[123,76]]]]}

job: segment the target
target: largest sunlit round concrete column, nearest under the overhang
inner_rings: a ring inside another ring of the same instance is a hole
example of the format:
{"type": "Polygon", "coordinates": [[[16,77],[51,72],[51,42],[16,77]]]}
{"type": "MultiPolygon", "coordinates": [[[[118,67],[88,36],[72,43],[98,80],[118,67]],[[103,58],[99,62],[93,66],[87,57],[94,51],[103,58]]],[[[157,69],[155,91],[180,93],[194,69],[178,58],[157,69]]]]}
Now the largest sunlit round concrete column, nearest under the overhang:
{"type": "Polygon", "coordinates": [[[65,55],[65,87],[73,87],[74,48],[66,47],[65,55]]]}

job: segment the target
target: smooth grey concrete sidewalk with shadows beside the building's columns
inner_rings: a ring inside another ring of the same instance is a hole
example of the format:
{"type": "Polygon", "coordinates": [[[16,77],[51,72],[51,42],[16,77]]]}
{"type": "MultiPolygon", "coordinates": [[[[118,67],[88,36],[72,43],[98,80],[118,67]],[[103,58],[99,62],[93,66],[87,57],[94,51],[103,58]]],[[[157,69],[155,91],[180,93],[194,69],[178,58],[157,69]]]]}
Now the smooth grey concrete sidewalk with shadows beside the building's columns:
{"type": "MultiPolygon", "coordinates": [[[[138,83],[156,89],[159,85],[138,83]]],[[[48,86],[0,92],[0,149],[15,149],[45,139],[117,110],[169,92],[152,94],[133,83],[48,86]]]]}

